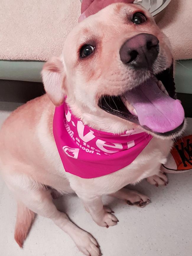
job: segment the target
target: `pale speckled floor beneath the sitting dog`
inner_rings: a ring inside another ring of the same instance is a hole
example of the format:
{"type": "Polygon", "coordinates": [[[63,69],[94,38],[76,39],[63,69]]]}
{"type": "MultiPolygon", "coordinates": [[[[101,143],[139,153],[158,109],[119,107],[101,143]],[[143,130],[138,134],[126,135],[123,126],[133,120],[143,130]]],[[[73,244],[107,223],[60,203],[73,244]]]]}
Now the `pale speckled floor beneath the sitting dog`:
{"type": "MultiPolygon", "coordinates": [[[[15,105],[6,105],[12,109],[15,105]]],[[[0,125],[9,114],[0,103],[0,125]]],[[[192,121],[192,120],[191,120],[192,121]]],[[[191,122],[192,125],[192,122],[191,122]]],[[[117,226],[98,227],[77,196],[55,200],[72,221],[95,236],[104,256],[191,256],[192,255],[192,173],[170,174],[167,187],[154,187],[146,181],[134,189],[149,195],[152,203],[139,209],[105,197],[119,219],[117,226]]],[[[81,256],[72,240],[49,219],[38,216],[30,234],[19,249],[14,241],[16,202],[0,179],[1,256],[81,256]]]]}

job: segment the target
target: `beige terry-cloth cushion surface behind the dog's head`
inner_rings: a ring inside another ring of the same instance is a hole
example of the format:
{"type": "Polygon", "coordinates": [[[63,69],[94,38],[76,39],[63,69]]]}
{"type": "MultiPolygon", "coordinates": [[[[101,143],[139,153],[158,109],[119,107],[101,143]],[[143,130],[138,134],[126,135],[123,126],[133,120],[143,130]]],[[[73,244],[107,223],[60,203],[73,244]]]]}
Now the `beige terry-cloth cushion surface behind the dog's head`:
{"type": "MultiPolygon", "coordinates": [[[[176,59],[192,58],[191,13],[191,0],[172,0],[159,22],[176,59]]],[[[0,59],[44,61],[59,55],[79,15],[79,0],[1,0],[0,59]]]]}

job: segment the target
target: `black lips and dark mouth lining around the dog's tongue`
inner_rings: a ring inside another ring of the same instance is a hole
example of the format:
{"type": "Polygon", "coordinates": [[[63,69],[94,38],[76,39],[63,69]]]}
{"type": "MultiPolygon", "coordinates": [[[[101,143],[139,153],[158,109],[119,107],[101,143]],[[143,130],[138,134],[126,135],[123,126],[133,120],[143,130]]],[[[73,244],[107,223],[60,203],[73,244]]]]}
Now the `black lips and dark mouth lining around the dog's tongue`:
{"type": "MultiPolygon", "coordinates": [[[[158,80],[162,81],[162,83],[165,86],[165,89],[169,93],[170,97],[175,99],[176,94],[175,94],[175,82],[174,82],[174,77],[173,77],[173,62],[169,68],[162,71],[160,74],[157,74],[156,77],[158,80]]],[[[120,118],[123,118],[125,120],[128,120],[130,122],[140,125],[138,117],[132,115],[128,111],[126,106],[123,104],[120,96],[109,96],[109,95],[104,96],[103,95],[100,98],[100,100],[98,101],[98,106],[100,108],[102,108],[104,111],[106,111],[112,115],[118,116],[120,118]],[[117,104],[115,102],[118,104],[118,108],[117,108],[117,104]]],[[[149,129],[148,127],[142,127],[142,128],[144,128],[145,130],[150,131],[156,135],[167,137],[167,136],[170,136],[170,135],[173,135],[173,134],[179,132],[183,128],[183,124],[184,124],[184,120],[183,120],[183,123],[180,124],[180,126],[178,126],[176,129],[169,131],[169,132],[165,132],[165,133],[154,132],[151,129],[149,129]]]]}

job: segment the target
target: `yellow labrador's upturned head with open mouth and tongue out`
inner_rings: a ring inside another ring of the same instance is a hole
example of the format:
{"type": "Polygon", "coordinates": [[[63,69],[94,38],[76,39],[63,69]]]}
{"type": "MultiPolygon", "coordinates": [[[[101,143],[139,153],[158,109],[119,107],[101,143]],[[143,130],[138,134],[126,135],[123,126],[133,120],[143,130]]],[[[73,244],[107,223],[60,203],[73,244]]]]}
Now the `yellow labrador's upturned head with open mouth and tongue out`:
{"type": "Polygon", "coordinates": [[[139,126],[165,138],[183,128],[169,40],[138,4],[111,4],[80,22],[42,75],[51,101],[59,106],[67,96],[73,113],[95,129],[139,126]]]}

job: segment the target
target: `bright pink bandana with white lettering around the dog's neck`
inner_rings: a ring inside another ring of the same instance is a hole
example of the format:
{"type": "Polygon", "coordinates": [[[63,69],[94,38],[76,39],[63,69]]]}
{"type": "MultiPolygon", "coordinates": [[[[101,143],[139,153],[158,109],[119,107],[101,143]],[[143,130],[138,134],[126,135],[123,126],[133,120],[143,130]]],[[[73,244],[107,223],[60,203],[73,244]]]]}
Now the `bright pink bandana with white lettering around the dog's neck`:
{"type": "Polygon", "coordinates": [[[86,179],[128,166],[152,139],[139,130],[118,135],[92,129],[65,102],[55,108],[53,135],[65,171],[86,179]]]}

